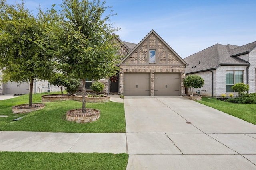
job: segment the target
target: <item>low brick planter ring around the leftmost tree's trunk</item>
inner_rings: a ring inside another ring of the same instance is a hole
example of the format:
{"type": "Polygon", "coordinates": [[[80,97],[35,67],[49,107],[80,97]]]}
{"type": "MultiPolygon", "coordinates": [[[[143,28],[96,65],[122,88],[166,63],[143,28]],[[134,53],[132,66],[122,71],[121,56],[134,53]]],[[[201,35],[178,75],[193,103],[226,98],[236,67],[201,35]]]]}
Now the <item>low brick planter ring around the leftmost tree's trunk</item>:
{"type": "Polygon", "coordinates": [[[29,113],[31,111],[39,110],[44,107],[45,105],[43,103],[33,103],[32,106],[28,106],[28,104],[21,104],[17,106],[12,106],[12,113],[13,114],[29,113]]]}

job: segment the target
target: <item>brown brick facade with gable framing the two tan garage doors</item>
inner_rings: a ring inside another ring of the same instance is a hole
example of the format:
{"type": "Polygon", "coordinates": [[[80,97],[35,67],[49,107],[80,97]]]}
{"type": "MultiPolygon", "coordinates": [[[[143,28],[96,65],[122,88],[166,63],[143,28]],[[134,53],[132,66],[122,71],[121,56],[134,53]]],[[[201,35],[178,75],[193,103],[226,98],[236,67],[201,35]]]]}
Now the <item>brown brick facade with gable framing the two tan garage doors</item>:
{"type": "Polygon", "coordinates": [[[150,95],[154,96],[154,74],[180,73],[180,95],[185,94],[182,83],[186,64],[154,31],[128,54],[120,65],[119,93],[124,94],[124,74],[126,72],[150,73],[150,95]],[[156,63],[149,63],[149,50],[156,50],[156,63]]]}

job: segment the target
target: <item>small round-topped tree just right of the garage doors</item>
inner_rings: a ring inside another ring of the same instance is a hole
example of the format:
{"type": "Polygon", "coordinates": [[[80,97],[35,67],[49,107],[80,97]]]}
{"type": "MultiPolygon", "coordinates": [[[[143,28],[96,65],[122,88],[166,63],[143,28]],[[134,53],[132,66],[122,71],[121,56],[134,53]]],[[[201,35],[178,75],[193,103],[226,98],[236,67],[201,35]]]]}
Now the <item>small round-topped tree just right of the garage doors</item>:
{"type": "Polygon", "coordinates": [[[184,78],[183,84],[185,87],[189,88],[189,94],[191,94],[191,92],[193,93],[194,88],[201,88],[204,86],[204,79],[201,76],[190,74],[184,78]]]}

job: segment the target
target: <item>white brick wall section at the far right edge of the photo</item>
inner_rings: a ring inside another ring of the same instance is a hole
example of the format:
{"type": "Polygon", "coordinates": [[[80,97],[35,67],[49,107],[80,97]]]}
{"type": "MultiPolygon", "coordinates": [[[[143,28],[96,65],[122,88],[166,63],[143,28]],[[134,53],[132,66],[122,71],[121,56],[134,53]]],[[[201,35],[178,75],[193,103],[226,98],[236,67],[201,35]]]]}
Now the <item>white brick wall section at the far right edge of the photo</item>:
{"type": "Polygon", "coordinates": [[[256,93],[256,48],[249,53],[249,93],[256,93]]]}

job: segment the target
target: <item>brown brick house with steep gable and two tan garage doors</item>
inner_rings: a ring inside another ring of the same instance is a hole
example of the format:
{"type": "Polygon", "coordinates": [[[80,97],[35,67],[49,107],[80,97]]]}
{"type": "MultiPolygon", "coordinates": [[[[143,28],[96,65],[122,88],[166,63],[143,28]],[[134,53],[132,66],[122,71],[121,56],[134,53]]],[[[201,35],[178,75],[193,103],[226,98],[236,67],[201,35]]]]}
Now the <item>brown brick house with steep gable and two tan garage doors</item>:
{"type": "MultiPolygon", "coordinates": [[[[128,96],[181,96],[187,63],[154,31],[138,45],[120,42],[118,93],[128,96]],[[127,53],[127,54],[126,54],[127,53]],[[121,55],[121,54],[120,54],[121,55]]],[[[112,78],[110,78],[110,92],[112,78]]],[[[115,84],[114,84],[115,85],[115,84]]]]}

